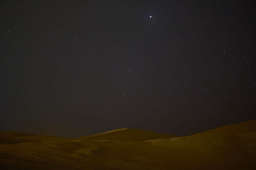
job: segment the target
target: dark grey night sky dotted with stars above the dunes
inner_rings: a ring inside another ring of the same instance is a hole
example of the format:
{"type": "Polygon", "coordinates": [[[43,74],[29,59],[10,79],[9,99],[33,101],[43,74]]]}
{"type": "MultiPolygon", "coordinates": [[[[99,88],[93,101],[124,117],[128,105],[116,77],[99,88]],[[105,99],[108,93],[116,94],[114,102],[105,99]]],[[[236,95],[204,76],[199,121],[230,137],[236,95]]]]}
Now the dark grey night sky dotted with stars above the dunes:
{"type": "Polygon", "coordinates": [[[188,135],[256,118],[253,1],[1,1],[0,131],[188,135]]]}

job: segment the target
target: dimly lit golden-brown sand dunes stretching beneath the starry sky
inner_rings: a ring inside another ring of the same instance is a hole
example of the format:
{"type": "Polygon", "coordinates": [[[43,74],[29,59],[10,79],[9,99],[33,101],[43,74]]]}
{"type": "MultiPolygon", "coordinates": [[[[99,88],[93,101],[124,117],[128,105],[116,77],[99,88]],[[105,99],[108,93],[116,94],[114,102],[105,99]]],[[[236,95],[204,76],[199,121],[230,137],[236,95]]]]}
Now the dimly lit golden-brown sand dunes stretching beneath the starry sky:
{"type": "Polygon", "coordinates": [[[2,169],[256,169],[255,160],[256,120],[186,137],[137,129],[77,139],[0,132],[2,169]]]}

